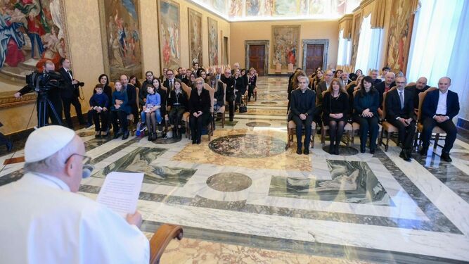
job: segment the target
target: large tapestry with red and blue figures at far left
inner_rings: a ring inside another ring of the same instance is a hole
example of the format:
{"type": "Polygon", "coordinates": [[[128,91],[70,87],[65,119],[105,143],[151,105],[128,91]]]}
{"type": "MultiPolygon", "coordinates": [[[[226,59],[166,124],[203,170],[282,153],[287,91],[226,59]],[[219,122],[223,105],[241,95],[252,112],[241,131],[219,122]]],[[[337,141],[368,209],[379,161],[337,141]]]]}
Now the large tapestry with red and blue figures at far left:
{"type": "Polygon", "coordinates": [[[68,56],[63,0],[2,1],[0,8],[0,71],[23,82],[47,60],[56,70],[68,56]]]}

